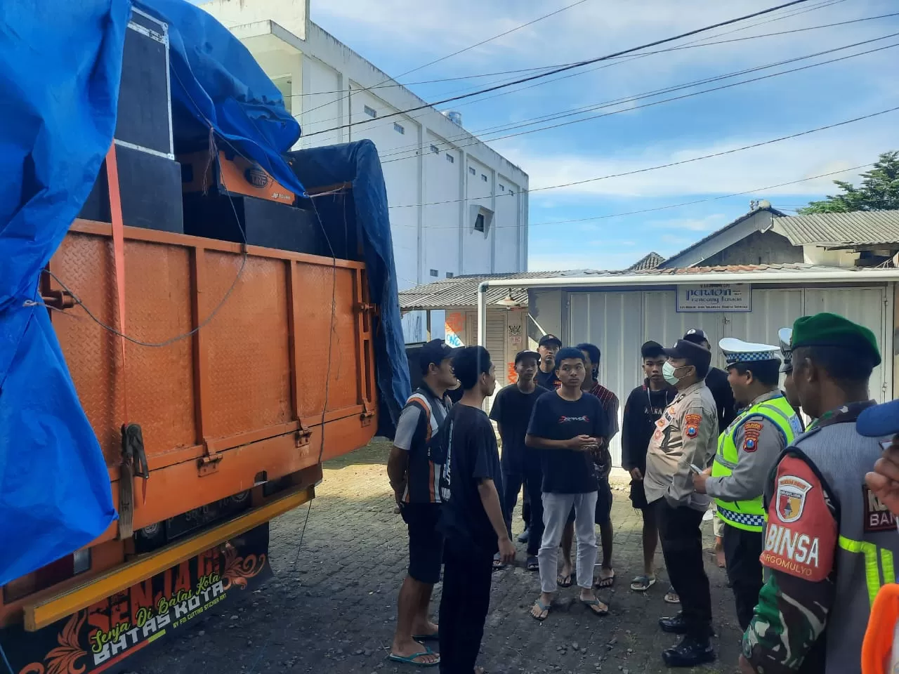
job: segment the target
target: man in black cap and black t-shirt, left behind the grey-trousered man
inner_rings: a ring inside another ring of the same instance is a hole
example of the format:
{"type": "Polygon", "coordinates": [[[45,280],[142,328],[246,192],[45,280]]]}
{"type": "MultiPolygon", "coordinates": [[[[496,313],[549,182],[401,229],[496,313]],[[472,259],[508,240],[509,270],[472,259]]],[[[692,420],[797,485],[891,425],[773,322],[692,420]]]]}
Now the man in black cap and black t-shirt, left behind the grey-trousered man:
{"type": "Polygon", "coordinates": [[[534,403],[540,395],[547,393],[547,389],[538,386],[534,380],[539,361],[540,355],[537,351],[519,351],[515,355],[515,374],[518,375],[518,380],[509,386],[503,386],[494,398],[493,407],[490,408],[490,418],[496,421],[500,438],[503,439],[501,459],[505,492],[503,508],[510,537],[512,510],[515,510],[522,483],[531,494],[530,521],[527,523],[530,531],[528,571],[539,571],[537,553],[540,549],[540,540],[543,538],[543,501],[540,491],[543,471],[540,470],[539,450],[526,447],[524,444],[534,403]]]}

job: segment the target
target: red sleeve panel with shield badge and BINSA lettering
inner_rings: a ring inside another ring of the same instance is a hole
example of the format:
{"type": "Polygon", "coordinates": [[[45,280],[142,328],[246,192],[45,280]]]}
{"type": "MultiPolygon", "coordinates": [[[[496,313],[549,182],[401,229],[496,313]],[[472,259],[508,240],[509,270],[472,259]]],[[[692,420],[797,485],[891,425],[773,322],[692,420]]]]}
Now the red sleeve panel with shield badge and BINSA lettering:
{"type": "Polygon", "coordinates": [[[823,581],[833,569],[837,523],[821,482],[805,461],[785,457],[775,487],[761,563],[805,581],[823,581]]]}

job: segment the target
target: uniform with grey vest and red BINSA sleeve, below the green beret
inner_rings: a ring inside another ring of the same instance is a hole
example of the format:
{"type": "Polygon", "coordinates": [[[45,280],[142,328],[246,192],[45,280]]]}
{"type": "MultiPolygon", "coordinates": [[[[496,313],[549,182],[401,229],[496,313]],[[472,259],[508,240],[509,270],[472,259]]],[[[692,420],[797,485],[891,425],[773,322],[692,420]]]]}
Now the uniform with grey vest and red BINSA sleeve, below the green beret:
{"type": "Polygon", "coordinates": [[[743,655],[759,674],[860,671],[869,600],[881,582],[895,581],[899,554],[895,523],[863,490],[880,448],[854,422],[871,404],[824,413],[769,475],[767,580],[743,634],[743,655]],[[873,569],[863,554],[872,550],[873,569]]]}

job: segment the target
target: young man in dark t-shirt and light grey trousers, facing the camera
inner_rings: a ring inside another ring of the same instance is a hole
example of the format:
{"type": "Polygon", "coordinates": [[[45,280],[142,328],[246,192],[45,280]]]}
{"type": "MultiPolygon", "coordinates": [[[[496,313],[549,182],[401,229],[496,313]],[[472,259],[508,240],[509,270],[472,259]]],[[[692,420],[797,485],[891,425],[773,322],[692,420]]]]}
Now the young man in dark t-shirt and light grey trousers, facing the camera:
{"type": "Polygon", "coordinates": [[[538,554],[541,592],[530,611],[538,620],[549,614],[556,591],[558,547],[572,506],[581,602],[596,615],[609,612],[593,592],[593,519],[599,487],[596,461],[609,436],[609,424],[599,399],[581,390],[586,371],[580,350],[567,348],[556,353],[556,375],[560,386],[538,398],[525,437],[528,447],[540,450],[543,465],[545,529],[538,554]]]}

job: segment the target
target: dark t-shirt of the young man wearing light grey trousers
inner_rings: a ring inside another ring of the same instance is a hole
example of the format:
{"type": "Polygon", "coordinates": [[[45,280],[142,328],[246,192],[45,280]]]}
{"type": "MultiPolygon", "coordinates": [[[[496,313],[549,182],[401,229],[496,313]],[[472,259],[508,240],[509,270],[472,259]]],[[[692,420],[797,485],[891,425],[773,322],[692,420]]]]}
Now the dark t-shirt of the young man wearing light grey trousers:
{"type": "MultiPolygon", "coordinates": [[[[583,394],[575,401],[552,392],[541,395],[530,416],[528,435],[549,440],[567,440],[579,435],[609,438],[609,421],[599,398],[583,394]]],[[[574,449],[540,449],[543,491],[587,493],[599,489],[591,452],[574,449]]]]}

